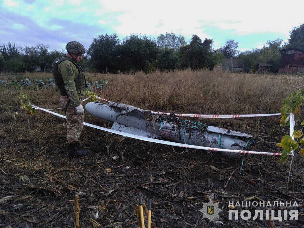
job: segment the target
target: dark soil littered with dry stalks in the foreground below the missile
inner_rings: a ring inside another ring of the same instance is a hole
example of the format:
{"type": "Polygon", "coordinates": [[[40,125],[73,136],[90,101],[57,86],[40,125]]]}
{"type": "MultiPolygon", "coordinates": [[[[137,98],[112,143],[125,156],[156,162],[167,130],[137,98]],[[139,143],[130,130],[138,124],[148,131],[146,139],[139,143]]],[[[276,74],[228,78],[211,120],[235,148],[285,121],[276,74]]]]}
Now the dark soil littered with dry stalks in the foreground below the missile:
{"type": "MultiPolygon", "coordinates": [[[[1,118],[2,128],[7,130],[0,159],[2,227],[74,227],[74,195],[79,196],[81,227],[136,227],[138,193],[146,206],[152,199],[155,227],[270,227],[267,220],[252,219],[255,209],[265,207],[241,204],[234,209],[239,214],[248,209],[252,217],[228,219],[228,210],[233,209],[228,202],[236,204],[250,197],[251,202],[271,202],[268,209],[276,212],[299,210],[299,220],[272,220],[274,227],[302,227],[304,223],[303,171],[292,171],[287,191],[288,165],[282,169],[279,157],[228,158],[204,150],[187,152],[84,127],[87,138],[82,137],[82,147],[88,154],[73,158],[66,153],[64,130],[42,141],[31,140],[34,130],[27,131],[28,138],[21,135],[10,140],[20,121],[27,124],[26,114],[19,115],[21,120],[12,121],[10,115],[1,118]],[[199,211],[209,199],[222,210],[212,222],[199,211]],[[297,202],[298,207],[273,207],[275,201],[297,202]]],[[[45,127],[49,121],[64,123],[50,114],[39,115],[45,116],[45,127]]],[[[30,122],[33,129],[41,124],[34,116],[30,122]]],[[[96,120],[95,124],[106,123],[96,120]]],[[[271,133],[271,128],[265,130],[271,133]]],[[[275,143],[271,136],[260,133],[252,149],[279,152],[275,143]]]]}

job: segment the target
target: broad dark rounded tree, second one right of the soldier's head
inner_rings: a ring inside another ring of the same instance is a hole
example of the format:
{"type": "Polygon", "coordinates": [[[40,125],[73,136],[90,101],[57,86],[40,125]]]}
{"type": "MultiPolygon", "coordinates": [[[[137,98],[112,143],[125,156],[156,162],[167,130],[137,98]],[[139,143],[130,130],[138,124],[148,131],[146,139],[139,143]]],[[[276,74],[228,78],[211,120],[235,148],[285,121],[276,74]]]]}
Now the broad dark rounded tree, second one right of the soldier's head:
{"type": "Polygon", "coordinates": [[[155,64],[157,52],[157,43],[146,35],[132,34],[124,38],[120,49],[120,60],[124,67],[122,70],[150,72],[155,64]]]}

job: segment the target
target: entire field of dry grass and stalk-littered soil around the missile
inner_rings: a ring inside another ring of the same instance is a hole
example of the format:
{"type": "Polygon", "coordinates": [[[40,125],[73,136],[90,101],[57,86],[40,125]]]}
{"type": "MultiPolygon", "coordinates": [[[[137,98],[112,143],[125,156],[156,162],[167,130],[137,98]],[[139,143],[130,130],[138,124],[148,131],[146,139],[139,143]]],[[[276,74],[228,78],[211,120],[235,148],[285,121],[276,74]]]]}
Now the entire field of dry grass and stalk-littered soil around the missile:
{"type": "MultiPolygon", "coordinates": [[[[136,227],[133,212],[142,193],[152,199],[152,227],[271,227],[267,220],[229,220],[228,202],[296,201],[299,220],[274,227],[304,224],[304,159],[296,154],[289,188],[290,157],[247,155],[241,160],[208,151],[147,143],[84,127],[84,157],[68,157],[65,120],[46,112],[29,116],[18,94],[46,109],[60,108],[56,86],[39,87],[50,73],[0,74],[0,227],[74,227],[74,195],[79,195],[81,227],[136,227]],[[22,86],[29,78],[33,85],[22,86]],[[17,80],[17,81],[14,81],[17,80]],[[117,155],[118,159],[112,157],[117,155]],[[223,211],[219,219],[202,219],[202,203],[212,199],[223,211]]],[[[231,74],[222,71],[175,71],[144,74],[87,73],[88,82],[106,80],[99,97],[142,109],[192,114],[278,113],[283,99],[302,88],[303,75],[231,74]]],[[[303,108],[295,116],[303,121],[303,108]]],[[[62,110],[55,112],[63,114],[62,110]]],[[[188,118],[190,119],[190,118],[188,118]]],[[[280,116],[238,119],[194,119],[211,126],[248,133],[252,150],[280,152],[276,146],[289,127],[280,116]]],[[[110,128],[85,112],[85,122],[110,128]]],[[[246,208],[237,208],[239,212],[246,208]]],[[[254,213],[254,209],[250,208],[254,213]]],[[[264,208],[262,208],[264,209],[264,208]]],[[[278,208],[275,208],[276,210],[278,208]]],[[[290,210],[290,208],[289,208],[290,210]]]]}

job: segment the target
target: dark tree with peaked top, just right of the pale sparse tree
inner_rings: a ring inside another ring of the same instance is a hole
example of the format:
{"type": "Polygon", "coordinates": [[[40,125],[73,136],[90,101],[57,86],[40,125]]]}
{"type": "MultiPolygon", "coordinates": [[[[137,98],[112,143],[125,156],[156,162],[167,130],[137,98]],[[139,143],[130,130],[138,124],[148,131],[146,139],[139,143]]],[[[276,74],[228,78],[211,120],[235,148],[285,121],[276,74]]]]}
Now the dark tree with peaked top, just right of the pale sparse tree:
{"type": "Polygon", "coordinates": [[[204,67],[212,70],[215,63],[215,53],[212,51],[212,40],[202,40],[197,35],[192,36],[191,42],[180,48],[181,67],[191,69],[202,69],[204,67]]]}

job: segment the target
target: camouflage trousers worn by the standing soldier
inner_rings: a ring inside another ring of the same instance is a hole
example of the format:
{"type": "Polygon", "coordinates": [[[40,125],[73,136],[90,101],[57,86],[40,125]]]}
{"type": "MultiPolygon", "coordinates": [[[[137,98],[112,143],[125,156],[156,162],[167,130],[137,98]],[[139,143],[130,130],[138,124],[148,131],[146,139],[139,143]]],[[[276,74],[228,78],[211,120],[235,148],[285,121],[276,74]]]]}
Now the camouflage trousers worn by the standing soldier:
{"type": "MultiPolygon", "coordinates": [[[[79,99],[82,105],[82,99],[79,99]]],[[[60,96],[60,102],[65,116],[67,117],[67,142],[77,143],[84,120],[83,115],[78,115],[76,108],[71,104],[67,96],[60,96]]]]}

